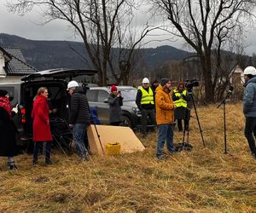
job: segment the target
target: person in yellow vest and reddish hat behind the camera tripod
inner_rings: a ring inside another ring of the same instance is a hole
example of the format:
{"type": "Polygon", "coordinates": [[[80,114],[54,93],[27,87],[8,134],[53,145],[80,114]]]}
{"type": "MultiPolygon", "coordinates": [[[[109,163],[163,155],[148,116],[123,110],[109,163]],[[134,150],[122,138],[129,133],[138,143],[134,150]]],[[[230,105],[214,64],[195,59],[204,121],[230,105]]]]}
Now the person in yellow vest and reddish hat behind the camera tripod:
{"type": "Polygon", "coordinates": [[[188,131],[189,120],[186,118],[188,110],[188,91],[185,89],[185,83],[179,82],[177,89],[173,89],[172,101],[174,102],[176,109],[174,111],[174,118],[177,120],[178,131],[183,131],[182,120],[184,121],[184,130],[188,131]]]}

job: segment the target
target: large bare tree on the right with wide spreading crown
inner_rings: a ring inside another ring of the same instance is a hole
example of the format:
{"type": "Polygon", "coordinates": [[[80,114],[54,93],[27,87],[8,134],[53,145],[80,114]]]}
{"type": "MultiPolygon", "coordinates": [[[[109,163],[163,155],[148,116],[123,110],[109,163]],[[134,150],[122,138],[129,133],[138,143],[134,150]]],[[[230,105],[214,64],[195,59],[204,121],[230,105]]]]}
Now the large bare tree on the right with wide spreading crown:
{"type": "Polygon", "coordinates": [[[206,101],[212,101],[218,78],[224,71],[221,51],[227,48],[227,43],[241,43],[242,29],[253,17],[251,11],[255,7],[255,0],[150,2],[155,14],[171,22],[170,32],[182,37],[189,47],[195,49],[205,81],[206,101]]]}

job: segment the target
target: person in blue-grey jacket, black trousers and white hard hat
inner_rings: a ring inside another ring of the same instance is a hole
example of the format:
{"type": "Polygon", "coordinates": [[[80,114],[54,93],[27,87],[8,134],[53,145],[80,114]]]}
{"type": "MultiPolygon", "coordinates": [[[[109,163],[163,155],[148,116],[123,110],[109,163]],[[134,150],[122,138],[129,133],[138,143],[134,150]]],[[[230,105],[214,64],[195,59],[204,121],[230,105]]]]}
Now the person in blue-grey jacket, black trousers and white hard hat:
{"type": "Polygon", "coordinates": [[[246,118],[244,135],[247,138],[251,153],[256,158],[254,137],[256,136],[256,69],[247,66],[244,70],[245,90],[243,95],[243,113],[246,118]]]}

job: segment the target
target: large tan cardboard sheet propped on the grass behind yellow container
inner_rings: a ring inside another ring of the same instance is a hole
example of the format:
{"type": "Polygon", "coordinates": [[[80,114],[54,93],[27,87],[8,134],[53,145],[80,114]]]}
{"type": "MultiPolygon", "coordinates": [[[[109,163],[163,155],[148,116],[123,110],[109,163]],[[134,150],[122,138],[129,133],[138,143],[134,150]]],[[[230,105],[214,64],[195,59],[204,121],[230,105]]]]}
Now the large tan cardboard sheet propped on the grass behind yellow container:
{"type": "Polygon", "coordinates": [[[90,125],[87,130],[87,134],[90,152],[93,154],[103,154],[102,147],[104,153],[106,153],[106,144],[116,142],[118,142],[121,146],[120,153],[134,153],[137,151],[143,151],[145,149],[142,142],[129,127],[96,125],[95,128],[95,125],[90,125]],[[102,146],[96,134],[96,130],[100,135],[102,146]]]}

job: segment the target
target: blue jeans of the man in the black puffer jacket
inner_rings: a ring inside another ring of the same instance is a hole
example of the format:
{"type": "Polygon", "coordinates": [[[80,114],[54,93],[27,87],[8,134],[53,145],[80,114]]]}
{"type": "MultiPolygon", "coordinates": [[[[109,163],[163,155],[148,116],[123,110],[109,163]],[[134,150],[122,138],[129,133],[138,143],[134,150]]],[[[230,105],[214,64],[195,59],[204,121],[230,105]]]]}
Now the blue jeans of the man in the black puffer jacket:
{"type": "Polygon", "coordinates": [[[75,142],[77,152],[81,158],[88,155],[88,151],[85,147],[85,131],[89,124],[74,124],[73,125],[73,141],[75,142]]]}

